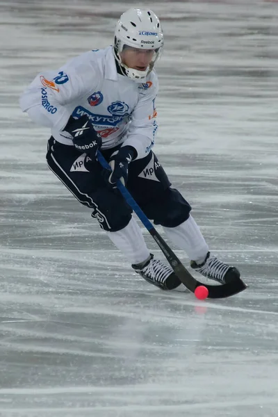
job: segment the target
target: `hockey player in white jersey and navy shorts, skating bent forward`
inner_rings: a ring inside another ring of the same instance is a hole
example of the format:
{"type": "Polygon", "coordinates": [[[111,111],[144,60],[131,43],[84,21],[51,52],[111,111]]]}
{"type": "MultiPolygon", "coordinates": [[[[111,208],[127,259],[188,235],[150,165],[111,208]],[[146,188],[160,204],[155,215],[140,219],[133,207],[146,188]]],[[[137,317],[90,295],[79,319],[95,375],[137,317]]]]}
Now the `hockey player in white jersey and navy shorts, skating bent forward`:
{"type": "Polygon", "coordinates": [[[38,74],[20,106],[34,122],[51,128],[49,168],[92,209],[92,217],[136,272],[162,289],[181,284],[169,266],[149,253],[131,208],[115,187],[119,179],[147,217],[188,254],[191,267],[224,284],[239,277],[238,270],[210,254],[190,204],[171,188],[152,152],[158,129],[154,65],[162,49],[163,31],[152,10],[127,10],[117,22],[113,46],[38,74]],[[111,172],[97,161],[98,149],[111,172]]]}

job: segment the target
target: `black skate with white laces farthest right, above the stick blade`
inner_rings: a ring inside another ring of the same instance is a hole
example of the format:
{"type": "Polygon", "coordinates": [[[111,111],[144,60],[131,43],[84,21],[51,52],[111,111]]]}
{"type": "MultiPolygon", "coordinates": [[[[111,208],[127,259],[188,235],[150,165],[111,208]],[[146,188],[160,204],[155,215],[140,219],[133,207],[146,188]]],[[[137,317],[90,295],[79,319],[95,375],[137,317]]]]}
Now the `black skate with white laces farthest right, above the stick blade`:
{"type": "Polygon", "coordinates": [[[214,279],[220,284],[228,284],[240,277],[240,272],[234,266],[219,261],[216,256],[211,256],[210,252],[206,255],[204,263],[198,265],[195,261],[191,261],[190,266],[204,277],[214,279]]]}

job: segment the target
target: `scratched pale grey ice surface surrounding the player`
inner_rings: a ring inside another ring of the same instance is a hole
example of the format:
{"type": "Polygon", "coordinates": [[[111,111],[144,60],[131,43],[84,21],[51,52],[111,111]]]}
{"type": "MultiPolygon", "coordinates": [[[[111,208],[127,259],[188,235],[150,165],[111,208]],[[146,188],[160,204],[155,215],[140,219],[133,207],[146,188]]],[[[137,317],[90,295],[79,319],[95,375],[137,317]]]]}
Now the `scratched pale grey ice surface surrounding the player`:
{"type": "Polygon", "coordinates": [[[0,416],[277,417],[278,3],[138,3],[165,32],[156,154],[240,295],[134,275],[19,109],[35,74],[111,44],[134,5],[0,0],[0,416]]]}

